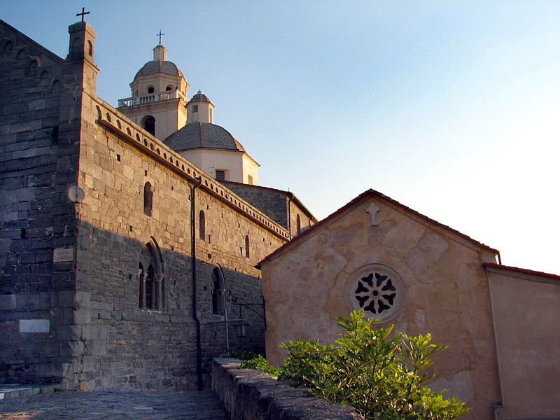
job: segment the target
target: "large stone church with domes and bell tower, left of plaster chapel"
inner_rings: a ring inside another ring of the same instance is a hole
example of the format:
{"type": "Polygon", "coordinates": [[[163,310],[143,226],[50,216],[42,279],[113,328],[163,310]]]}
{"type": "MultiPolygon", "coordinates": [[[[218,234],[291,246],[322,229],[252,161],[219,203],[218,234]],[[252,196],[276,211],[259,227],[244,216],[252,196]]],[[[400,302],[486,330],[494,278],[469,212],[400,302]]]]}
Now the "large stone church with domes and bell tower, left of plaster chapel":
{"type": "Polygon", "coordinates": [[[0,382],[202,388],[264,350],[255,265],[316,219],[258,186],[163,45],[99,98],[95,37],[71,25],[61,58],[0,21],[0,382]]]}

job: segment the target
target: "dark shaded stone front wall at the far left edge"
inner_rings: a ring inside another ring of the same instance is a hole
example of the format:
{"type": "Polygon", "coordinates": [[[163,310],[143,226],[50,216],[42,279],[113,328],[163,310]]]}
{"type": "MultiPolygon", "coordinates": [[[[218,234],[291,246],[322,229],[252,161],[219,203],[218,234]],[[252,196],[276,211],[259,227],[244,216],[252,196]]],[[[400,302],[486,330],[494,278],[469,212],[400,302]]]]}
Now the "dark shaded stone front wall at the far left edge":
{"type": "Polygon", "coordinates": [[[74,70],[0,21],[0,382],[57,382],[69,367],[76,273],[53,250],[76,246],[74,70]]]}

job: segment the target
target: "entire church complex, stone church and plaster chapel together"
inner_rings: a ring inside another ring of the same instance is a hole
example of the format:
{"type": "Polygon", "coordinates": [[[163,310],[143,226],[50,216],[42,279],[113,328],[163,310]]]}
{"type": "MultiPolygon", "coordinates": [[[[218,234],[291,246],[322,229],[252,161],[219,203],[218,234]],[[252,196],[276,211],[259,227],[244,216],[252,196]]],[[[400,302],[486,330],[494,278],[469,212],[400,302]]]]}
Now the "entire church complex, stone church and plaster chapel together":
{"type": "MultiPolygon", "coordinates": [[[[214,124],[161,41],[116,107],[96,32],[58,57],[0,20],[0,383],[194,390],[211,358],[337,316],[430,332],[465,418],[560,416],[560,277],[367,190],[323,221],[214,124]]],[[[265,344],[266,343],[266,344],[265,344]]]]}

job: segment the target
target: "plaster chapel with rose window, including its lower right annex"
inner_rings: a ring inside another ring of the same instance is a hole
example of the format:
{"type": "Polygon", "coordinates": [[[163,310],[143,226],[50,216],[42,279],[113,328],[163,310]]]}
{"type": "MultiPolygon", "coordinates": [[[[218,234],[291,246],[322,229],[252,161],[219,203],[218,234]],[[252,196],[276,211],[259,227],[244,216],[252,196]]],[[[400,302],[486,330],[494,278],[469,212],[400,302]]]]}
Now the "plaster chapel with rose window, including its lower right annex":
{"type": "Polygon", "coordinates": [[[464,401],[465,419],[557,418],[560,276],[497,262],[496,249],[367,190],[260,262],[267,359],[282,363],[295,337],[334,344],[337,317],[363,309],[447,346],[427,385],[464,401]]]}

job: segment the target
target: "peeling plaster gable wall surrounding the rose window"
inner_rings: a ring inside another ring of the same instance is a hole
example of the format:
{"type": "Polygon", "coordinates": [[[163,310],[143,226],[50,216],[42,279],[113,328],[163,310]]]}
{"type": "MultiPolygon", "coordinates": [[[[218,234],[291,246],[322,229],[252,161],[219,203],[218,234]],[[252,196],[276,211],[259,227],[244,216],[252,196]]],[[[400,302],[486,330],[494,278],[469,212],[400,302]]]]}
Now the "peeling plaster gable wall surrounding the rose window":
{"type": "Polygon", "coordinates": [[[267,300],[267,358],[281,364],[288,339],[334,342],[337,316],[347,316],[344,286],[363,265],[381,262],[407,285],[402,312],[390,323],[407,334],[430,332],[449,345],[436,360],[433,388],[448,388],[473,407],[471,418],[492,418],[499,401],[489,291],[481,249],[402,207],[377,198],[360,202],[262,265],[267,300]],[[378,225],[366,212],[374,202],[378,225]],[[437,229],[437,230],[436,230],[437,229]]]}

